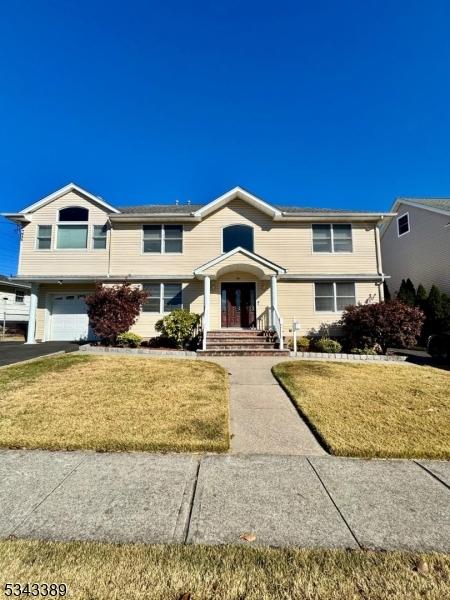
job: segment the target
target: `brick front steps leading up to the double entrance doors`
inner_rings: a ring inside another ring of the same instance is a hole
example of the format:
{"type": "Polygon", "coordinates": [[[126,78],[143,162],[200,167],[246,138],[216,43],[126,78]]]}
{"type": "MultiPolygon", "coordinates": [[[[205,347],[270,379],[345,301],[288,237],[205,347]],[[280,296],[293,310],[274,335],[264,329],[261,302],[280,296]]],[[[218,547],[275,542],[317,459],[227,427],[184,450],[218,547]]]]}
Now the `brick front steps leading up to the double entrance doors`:
{"type": "Polygon", "coordinates": [[[280,350],[278,337],[257,329],[220,329],[208,331],[206,350],[201,356],[289,356],[280,350]]]}

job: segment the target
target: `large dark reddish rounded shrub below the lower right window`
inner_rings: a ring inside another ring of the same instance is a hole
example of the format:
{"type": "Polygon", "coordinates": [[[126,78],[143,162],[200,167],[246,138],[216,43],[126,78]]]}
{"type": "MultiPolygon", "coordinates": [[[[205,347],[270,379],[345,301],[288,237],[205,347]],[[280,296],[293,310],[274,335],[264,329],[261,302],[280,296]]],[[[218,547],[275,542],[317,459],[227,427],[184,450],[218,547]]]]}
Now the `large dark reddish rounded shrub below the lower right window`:
{"type": "Polygon", "coordinates": [[[347,306],[340,325],[350,348],[373,348],[376,344],[386,353],[392,347],[409,347],[417,343],[424,322],[423,312],[399,300],[347,306]]]}

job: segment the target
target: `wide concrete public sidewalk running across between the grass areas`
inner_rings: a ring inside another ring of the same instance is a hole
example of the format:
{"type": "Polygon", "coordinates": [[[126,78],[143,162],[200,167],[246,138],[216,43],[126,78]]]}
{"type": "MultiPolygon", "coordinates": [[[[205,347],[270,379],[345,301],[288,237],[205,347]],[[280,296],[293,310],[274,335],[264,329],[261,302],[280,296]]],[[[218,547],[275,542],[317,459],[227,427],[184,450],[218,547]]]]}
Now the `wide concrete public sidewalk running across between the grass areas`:
{"type": "Polygon", "coordinates": [[[0,451],[0,537],[450,552],[450,462],[0,451]]]}

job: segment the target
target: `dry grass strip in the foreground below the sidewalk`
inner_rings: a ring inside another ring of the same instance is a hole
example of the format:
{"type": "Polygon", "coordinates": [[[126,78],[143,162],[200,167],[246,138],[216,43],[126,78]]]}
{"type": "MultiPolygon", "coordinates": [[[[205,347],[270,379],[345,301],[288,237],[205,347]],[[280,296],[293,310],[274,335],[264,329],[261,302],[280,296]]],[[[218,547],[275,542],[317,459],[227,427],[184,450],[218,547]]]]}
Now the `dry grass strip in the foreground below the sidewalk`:
{"type": "Polygon", "coordinates": [[[242,546],[0,542],[0,586],[55,582],[79,600],[444,600],[450,556],[242,546]],[[428,573],[417,571],[425,561],[428,573]],[[190,594],[190,596],[189,596],[190,594]]]}

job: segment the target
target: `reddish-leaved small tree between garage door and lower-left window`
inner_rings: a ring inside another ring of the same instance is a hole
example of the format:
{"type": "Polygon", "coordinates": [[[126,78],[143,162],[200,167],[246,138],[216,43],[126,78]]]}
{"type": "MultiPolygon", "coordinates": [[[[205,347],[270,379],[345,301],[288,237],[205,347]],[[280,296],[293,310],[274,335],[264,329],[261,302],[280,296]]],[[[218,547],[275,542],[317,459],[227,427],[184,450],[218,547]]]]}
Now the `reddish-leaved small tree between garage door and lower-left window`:
{"type": "Polygon", "coordinates": [[[128,282],[110,287],[97,283],[86,298],[88,315],[95,335],[105,344],[114,344],[117,336],[136,322],[147,293],[128,282]]]}

